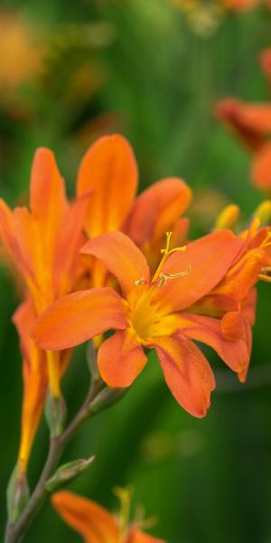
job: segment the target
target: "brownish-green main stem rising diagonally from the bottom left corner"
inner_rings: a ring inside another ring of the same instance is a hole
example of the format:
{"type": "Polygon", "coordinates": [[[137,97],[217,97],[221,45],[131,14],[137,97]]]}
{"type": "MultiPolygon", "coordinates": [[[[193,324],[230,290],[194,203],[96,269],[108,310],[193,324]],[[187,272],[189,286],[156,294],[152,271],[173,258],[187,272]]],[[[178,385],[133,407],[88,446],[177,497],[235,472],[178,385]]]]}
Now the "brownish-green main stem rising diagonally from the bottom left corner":
{"type": "Polygon", "coordinates": [[[109,405],[115,404],[123,394],[123,391],[105,388],[104,383],[100,380],[95,381],[90,386],[89,393],[83,405],[81,405],[78,413],[67,426],[66,430],[60,436],[51,438],[47,460],[40,479],[21,517],[16,522],[7,524],[5,529],[5,543],[19,543],[33,523],[33,519],[49,496],[45,483],[51,477],[52,473],[55,472],[62,453],[81,424],[89,419],[90,416],[94,416],[109,405]]]}

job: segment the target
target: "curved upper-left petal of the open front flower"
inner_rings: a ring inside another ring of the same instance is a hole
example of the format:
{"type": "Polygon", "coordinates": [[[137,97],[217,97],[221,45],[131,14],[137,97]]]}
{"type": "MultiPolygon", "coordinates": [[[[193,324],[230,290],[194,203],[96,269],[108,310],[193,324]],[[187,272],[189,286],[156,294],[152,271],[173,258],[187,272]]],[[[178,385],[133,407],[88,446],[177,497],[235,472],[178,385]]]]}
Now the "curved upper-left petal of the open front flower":
{"type": "Polygon", "coordinates": [[[99,235],[84,245],[81,252],[92,254],[105,264],[126,293],[135,289],[135,281],[149,281],[150,271],[144,254],[124,233],[110,232],[99,235]]]}

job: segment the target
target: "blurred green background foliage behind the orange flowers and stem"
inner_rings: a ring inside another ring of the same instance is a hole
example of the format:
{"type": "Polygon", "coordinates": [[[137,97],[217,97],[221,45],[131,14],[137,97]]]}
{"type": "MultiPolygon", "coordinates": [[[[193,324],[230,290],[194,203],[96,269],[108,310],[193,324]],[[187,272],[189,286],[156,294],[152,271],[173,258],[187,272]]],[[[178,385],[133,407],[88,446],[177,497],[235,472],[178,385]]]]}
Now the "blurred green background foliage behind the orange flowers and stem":
{"type": "MultiPolygon", "coordinates": [[[[211,2],[204,3],[210,8],[211,2]]],[[[33,151],[57,155],[70,195],[79,159],[98,136],[120,131],[135,148],[140,189],[163,176],[193,188],[192,233],[206,233],[221,207],[248,221],[260,195],[250,159],[212,116],[227,95],[268,100],[258,53],[271,45],[271,12],[197,24],[171,0],[21,0],[0,7],[0,185],[10,205],[27,199],[33,151]]],[[[203,22],[202,22],[203,21],[203,22]]],[[[206,22],[207,21],[207,22],[206,22]]],[[[210,270],[211,273],[211,270],[210,270]]],[[[21,358],[11,316],[18,304],[4,264],[1,289],[1,523],[19,441],[21,358]]],[[[271,543],[270,291],[259,285],[251,371],[245,386],[211,352],[218,387],[208,416],[175,403],[155,357],[125,398],[89,421],[66,461],[97,458],[70,489],[117,509],[114,485],[135,487],[134,504],[170,543],[271,543]]],[[[64,378],[70,414],[88,381],[84,348],[64,378]]],[[[45,424],[30,466],[47,451],[45,424]]],[[[2,532],[1,532],[2,533],[2,532]]],[[[79,541],[48,505],[25,538],[79,541]]]]}

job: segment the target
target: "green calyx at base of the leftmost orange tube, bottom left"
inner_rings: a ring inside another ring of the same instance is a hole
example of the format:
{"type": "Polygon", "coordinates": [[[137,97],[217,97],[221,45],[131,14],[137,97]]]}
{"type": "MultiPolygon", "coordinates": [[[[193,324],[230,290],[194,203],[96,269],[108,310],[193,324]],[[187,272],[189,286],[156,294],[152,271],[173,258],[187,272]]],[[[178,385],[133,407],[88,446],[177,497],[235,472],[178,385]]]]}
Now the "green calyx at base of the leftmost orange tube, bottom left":
{"type": "Polygon", "coordinates": [[[16,522],[29,500],[29,488],[25,473],[18,462],[11,474],[6,491],[9,522],[16,522]]]}

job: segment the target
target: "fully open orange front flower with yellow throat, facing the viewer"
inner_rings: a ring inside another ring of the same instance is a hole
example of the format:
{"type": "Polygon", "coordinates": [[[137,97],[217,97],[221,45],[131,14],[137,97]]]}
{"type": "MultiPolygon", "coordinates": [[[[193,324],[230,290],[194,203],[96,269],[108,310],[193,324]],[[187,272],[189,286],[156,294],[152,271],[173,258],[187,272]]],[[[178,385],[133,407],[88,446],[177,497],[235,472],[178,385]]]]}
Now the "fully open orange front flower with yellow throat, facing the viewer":
{"type": "MultiPolygon", "coordinates": [[[[243,241],[220,230],[189,243],[184,252],[184,247],[170,250],[170,237],[167,233],[152,279],[143,253],[124,233],[90,240],[83,252],[98,258],[117,277],[123,296],[109,288],[65,296],[37,319],[33,337],[40,348],[59,350],[117,330],[98,350],[100,375],[112,387],[130,386],[145,367],[144,348],[155,348],[177,402],[201,417],[210,406],[215,382],[208,361],[186,335],[191,325],[187,310],[222,280],[243,241]]],[[[206,329],[202,324],[203,341],[234,371],[246,368],[246,338],[224,338],[219,319],[210,319],[209,325],[206,329]]]]}

